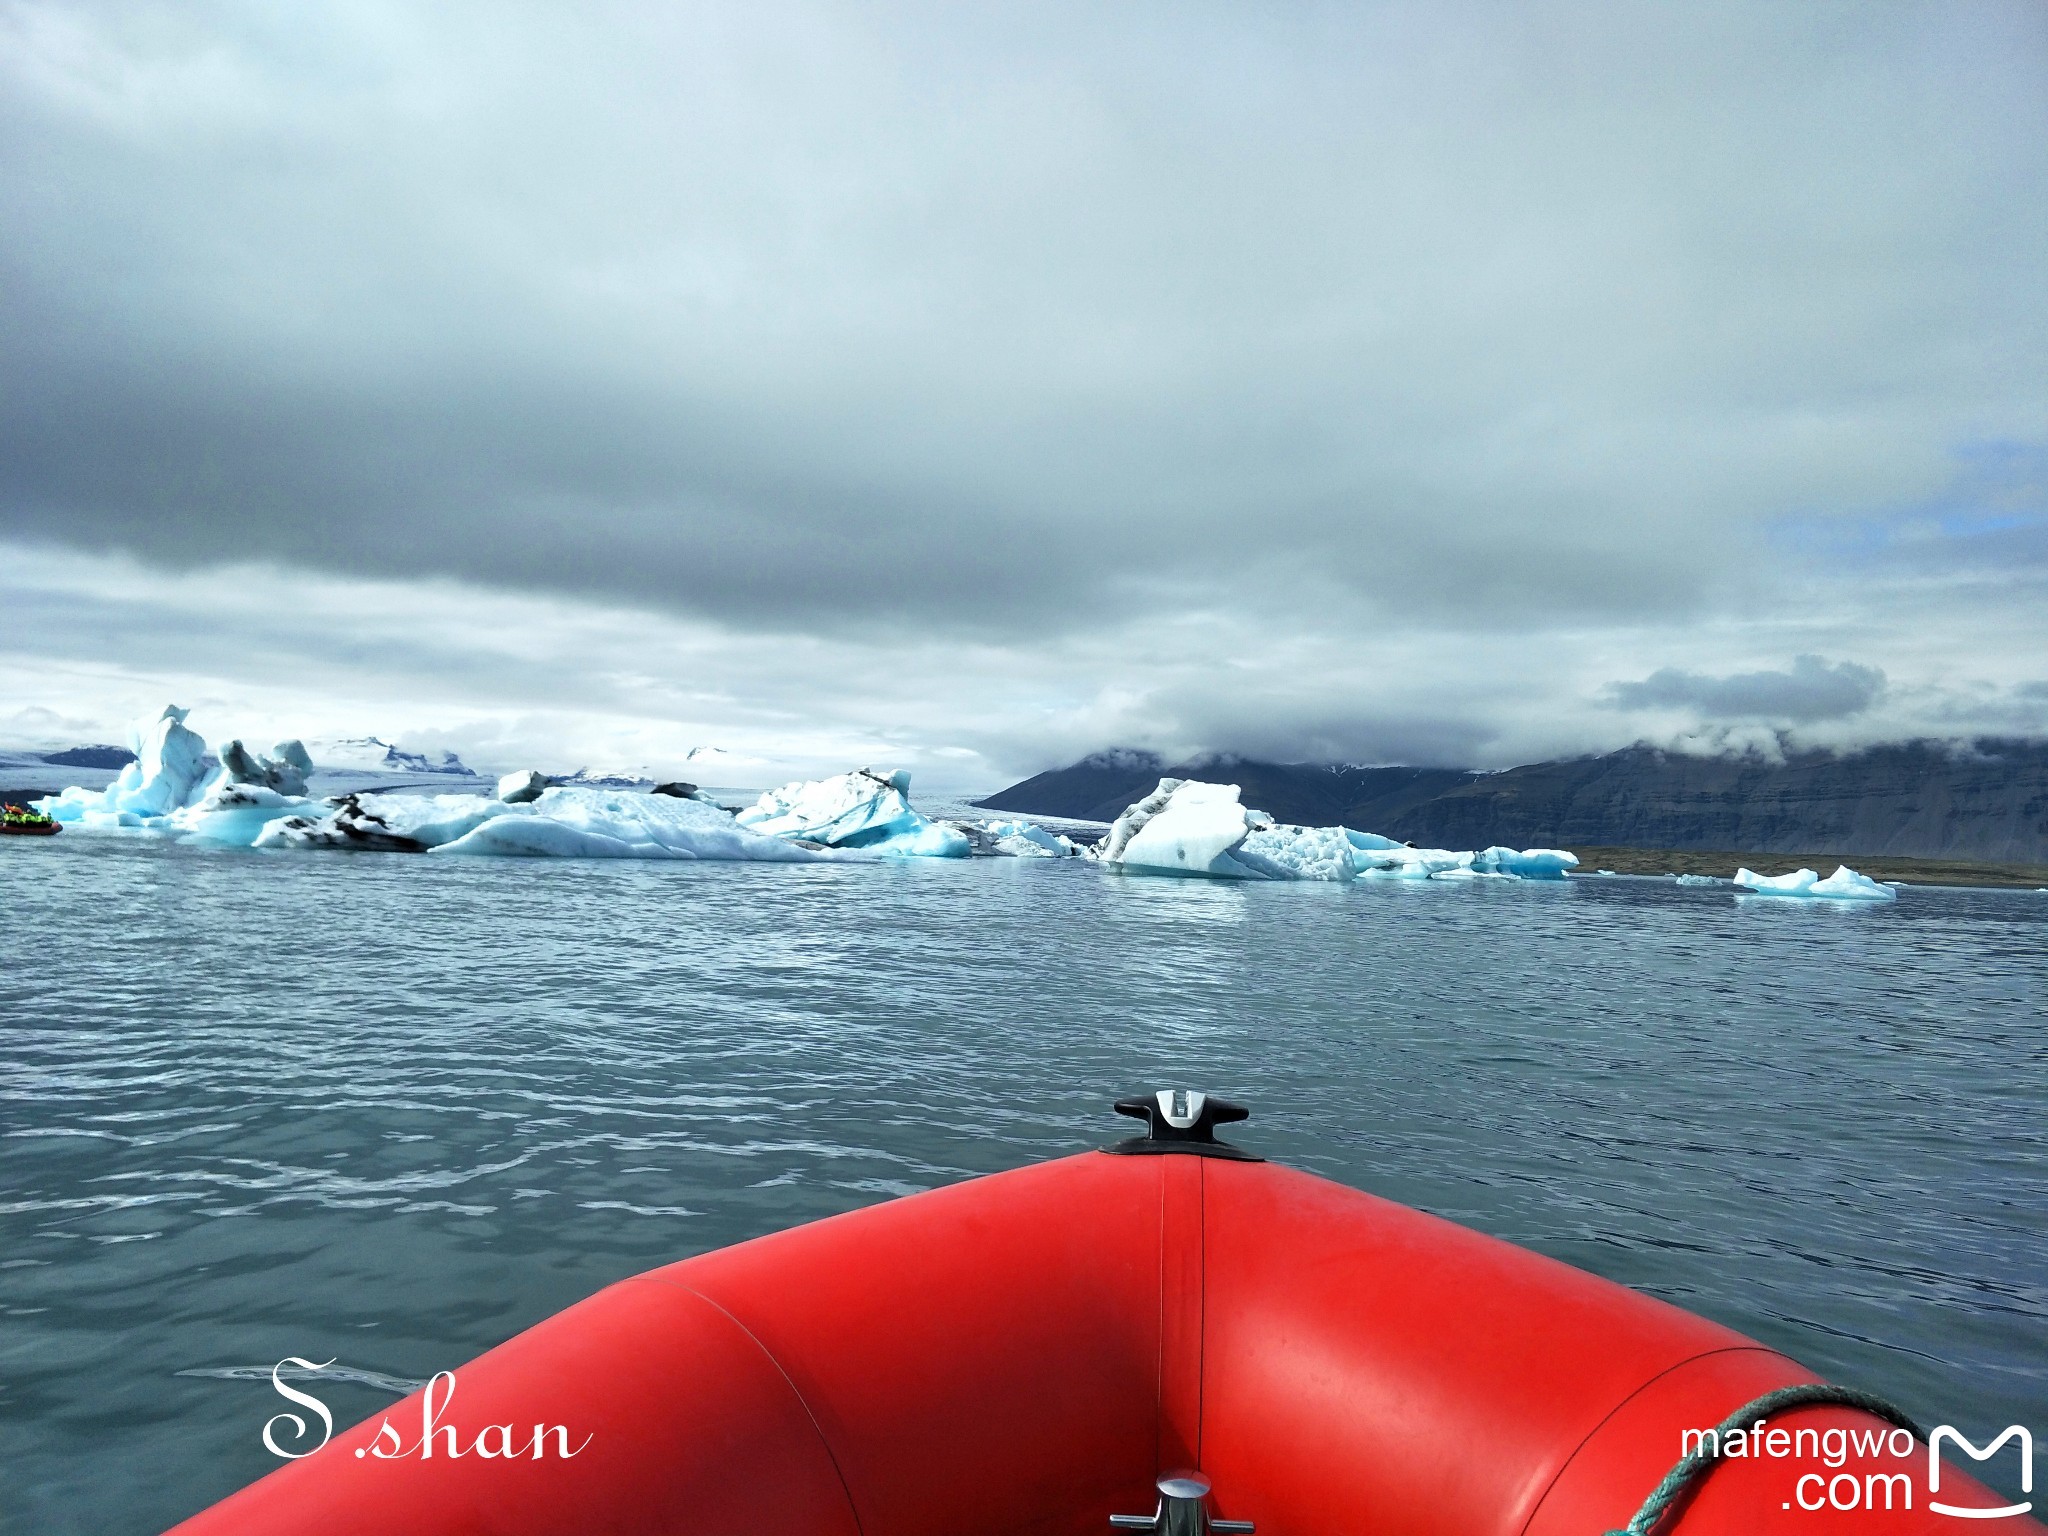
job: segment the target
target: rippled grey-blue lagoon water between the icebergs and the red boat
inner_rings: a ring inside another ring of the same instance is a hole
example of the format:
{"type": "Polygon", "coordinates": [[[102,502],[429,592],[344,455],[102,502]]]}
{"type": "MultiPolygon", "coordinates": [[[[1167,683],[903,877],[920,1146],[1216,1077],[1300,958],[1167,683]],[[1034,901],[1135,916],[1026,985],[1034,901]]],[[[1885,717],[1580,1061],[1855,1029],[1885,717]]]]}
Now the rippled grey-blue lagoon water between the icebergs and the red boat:
{"type": "MultiPolygon", "coordinates": [[[[2048,895],[0,846],[0,1528],[156,1532],[637,1270],[1120,1094],[2048,1434],[2048,895]]],[[[2011,1468],[1993,1475],[2009,1483],[2011,1468]]]]}

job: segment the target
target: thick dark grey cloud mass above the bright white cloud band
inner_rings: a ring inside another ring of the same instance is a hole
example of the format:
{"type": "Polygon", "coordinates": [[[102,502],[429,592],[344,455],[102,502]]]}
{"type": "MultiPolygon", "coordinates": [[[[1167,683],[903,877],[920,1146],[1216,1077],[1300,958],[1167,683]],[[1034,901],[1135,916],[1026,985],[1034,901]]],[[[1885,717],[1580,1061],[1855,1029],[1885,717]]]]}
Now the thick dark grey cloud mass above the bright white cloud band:
{"type": "Polygon", "coordinates": [[[2025,6],[4,16],[0,535],[1612,621],[2040,418],[2025,6]]]}

